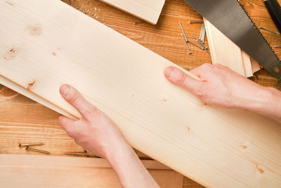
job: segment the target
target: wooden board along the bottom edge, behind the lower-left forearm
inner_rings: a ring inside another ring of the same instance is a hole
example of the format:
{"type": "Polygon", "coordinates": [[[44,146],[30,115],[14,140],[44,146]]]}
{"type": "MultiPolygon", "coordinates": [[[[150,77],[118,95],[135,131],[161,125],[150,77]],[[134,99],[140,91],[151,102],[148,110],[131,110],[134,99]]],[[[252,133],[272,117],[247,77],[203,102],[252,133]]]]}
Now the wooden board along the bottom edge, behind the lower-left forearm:
{"type": "MultiPolygon", "coordinates": [[[[160,187],[181,188],[183,175],[157,161],[142,161],[160,187]]],[[[1,187],[121,187],[103,158],[0,154],[1,187]]]]}

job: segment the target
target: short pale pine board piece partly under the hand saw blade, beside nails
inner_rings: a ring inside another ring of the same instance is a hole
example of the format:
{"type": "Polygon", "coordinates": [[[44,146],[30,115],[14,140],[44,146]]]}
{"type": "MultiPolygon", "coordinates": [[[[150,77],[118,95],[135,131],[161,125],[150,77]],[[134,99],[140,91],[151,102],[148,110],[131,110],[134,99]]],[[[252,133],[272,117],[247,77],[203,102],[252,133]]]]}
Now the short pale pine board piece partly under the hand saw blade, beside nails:
{"type": "Polygon", "coordinates": [[[254,67],[259,67],[259,64],[256,63],[256,61],[251,62],[251,58],[248,54],[228,39],[226,35],[223,35],[223,33],[208,20],[204,19],[204,23],[209,39],[212,63],[225,65],[244,77],[253,76],[253,73],[257,70],[254,69],[256,71],[253,72],[251,64],[254,64],[254,67]]]}

